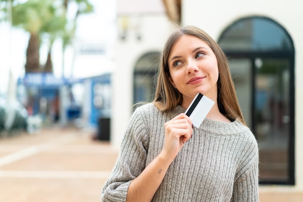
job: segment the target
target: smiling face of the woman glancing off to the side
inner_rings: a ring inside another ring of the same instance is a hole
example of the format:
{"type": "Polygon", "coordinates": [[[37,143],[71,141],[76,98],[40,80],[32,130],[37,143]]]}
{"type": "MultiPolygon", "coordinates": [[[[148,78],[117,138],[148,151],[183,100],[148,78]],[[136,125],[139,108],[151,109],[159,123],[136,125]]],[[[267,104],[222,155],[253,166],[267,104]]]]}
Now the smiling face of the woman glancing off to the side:
{"type": "Polygon", "coordinates": [[[167,62],[169,80],[183,95],[182,106],[187,107],[198,92],[217,100],[218,63],[207,43],[183,35],[173,45],[167,62]]]}

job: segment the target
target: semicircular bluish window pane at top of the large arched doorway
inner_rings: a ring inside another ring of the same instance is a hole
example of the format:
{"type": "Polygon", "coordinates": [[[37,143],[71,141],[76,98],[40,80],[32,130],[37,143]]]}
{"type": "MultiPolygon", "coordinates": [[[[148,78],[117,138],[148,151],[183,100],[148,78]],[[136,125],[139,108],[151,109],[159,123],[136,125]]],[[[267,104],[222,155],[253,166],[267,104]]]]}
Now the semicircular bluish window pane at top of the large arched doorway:
{"type": "Polygon", "coordinates": [[[225,51],[292,50],[292,43],[285,30],[267,18],[248,18],[226,29],[220,39],[225,51]]]}

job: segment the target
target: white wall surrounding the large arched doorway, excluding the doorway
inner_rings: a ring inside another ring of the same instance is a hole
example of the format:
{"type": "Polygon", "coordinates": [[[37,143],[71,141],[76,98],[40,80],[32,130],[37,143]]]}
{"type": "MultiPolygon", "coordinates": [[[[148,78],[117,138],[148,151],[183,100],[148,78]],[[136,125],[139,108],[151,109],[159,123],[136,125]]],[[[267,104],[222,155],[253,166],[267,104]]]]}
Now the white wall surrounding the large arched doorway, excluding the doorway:
{"type": "MultiPolygon", "coordinates": [[[[303,19],[297,0],[182,1],[183,25],[195,25],[218,40],[222,31],[234,21],[251,15],[265,16],[283,26],[295,46],[295,190],[303,191],[303,19]]],[[[276,187],[273,189],[279,191],[276,187]]],[[[270,189],[270,188],[267,188],[270,189]]],[[[273,190],[271,190],[273,191],[273,190]]]]}

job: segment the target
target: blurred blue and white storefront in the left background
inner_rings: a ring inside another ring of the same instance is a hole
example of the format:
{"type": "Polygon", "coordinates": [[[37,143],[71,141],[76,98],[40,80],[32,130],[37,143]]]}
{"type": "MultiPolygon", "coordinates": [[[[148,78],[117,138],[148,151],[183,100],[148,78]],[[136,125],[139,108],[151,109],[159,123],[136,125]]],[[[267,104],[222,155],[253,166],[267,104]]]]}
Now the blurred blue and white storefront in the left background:
{"type": "Polygon", "coordinates": [[[109,73],[82,79],[27,73],[18,79],[17,97],[44,124],[98,128],[101,118],[110,118],[110,84],[109,73]]]}

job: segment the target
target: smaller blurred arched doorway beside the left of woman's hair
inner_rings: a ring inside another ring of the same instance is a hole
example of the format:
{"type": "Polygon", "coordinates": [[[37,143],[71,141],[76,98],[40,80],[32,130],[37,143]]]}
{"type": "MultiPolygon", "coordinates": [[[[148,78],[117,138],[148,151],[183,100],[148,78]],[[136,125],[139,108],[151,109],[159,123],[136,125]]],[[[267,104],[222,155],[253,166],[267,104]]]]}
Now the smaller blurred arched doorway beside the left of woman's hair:
{"type": "Polygon", "coordinates": [[[150,52],[141,56],[134,70],[134,101],[150,102],[156,88],[156,73],[158,72],[159,52],[150,52]]]}

